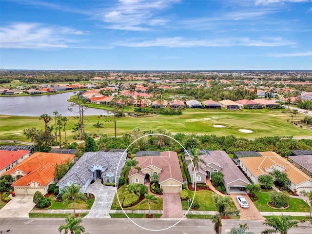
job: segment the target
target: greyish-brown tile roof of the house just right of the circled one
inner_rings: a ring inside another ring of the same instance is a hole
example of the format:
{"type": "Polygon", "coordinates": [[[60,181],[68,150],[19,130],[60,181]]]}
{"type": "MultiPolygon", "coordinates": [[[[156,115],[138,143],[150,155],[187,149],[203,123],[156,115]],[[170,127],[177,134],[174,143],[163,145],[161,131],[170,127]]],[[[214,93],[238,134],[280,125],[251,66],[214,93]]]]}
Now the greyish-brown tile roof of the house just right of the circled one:
{"type": "MultiPolygon", "coordinates": [[[[226,184],[229,184],[237,179],[245,181],[247,184],[250,184],[249,180],[244,176],[244,174],[237,168],[236,164],[232,159],[221,150],[210,150],[210,155],[200,155],[199,157],[203,159],[206,163],[200,163],[199,171],[206,175],[206,172],[202,168],[209,164],[215,163],[222,167],[221,172],[224,174],[223,180],[226,184]]],[[[186,157],[188,158],[188,157],[186,157]]],[[[188,165],[188,170],[190,174],[193,171],[193,165],[190,163],[188,165]]]]}

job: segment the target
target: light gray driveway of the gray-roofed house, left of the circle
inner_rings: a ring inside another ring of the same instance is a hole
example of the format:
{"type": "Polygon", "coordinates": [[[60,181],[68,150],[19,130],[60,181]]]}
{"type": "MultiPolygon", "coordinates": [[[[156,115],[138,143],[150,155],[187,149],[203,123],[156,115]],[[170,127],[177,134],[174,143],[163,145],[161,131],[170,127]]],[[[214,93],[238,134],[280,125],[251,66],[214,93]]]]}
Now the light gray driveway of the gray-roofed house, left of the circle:
{"type": "Polygon", "coordinates": [[[95,201],[88,215],[85,218],[110,218],[109,211],[114,200],[116,188],[104,186],[100,179],[90,184],[85,193],[95,196],[95,201]]]}

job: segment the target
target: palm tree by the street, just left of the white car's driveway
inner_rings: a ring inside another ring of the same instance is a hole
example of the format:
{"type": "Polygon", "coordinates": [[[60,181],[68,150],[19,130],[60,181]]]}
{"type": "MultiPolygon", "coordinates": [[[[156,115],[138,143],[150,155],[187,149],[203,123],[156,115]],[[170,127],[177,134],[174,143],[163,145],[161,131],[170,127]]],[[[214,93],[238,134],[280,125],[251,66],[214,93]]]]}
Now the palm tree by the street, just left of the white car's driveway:
{"type": "Polygon", "coordinates": [[[211,221],[214,223],[214,230],[216,234],[222,233],[222,217],[226,215],[238,215],[239,211],[229,210],[230,203],[232,201],[231,196],[220,196],[213,194],[215,207],[217,209],[217,214],[213,215],[211,221]]]}

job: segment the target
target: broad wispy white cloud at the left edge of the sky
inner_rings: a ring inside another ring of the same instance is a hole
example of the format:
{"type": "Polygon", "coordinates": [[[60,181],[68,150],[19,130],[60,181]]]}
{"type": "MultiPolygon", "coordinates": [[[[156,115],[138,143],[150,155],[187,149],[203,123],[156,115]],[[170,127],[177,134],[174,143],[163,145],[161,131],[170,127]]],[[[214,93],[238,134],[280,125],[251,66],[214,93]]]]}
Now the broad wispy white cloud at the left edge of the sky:
{"type": "Polygon", "coordinates": [[[68,27],[47,26],[40,23],[12,23],[0,28],[0,48],[15,49],[55,49],[86,48],[109,49],[108,46],[80,45],[76,36],[88,32],[77,31],[68,27]],[[74,38],[73,38],[74,36],[74,38]]]}

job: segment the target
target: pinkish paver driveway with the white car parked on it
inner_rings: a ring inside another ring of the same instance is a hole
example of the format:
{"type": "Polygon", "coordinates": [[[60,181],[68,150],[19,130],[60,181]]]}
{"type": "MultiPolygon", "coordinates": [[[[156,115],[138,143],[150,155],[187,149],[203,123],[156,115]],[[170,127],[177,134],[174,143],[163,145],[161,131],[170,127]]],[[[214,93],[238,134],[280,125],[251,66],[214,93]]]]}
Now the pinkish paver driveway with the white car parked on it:
{"type": "Polygon", "coordinates": [[[260,214],[260,212],[254,206],[254,203],[252,202],[252,200],[247,194],[230,194],[230,195],[235,203],[235,206],[240,211],[240,219],[242,220],[265,220],[265,218],[260,214]],[[248,208],[240,207],[240,205],[238,204],[238,201],[236,200],[237,195],[241,195],[245,197],[249,205],[248,208]]]}

